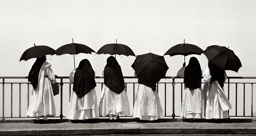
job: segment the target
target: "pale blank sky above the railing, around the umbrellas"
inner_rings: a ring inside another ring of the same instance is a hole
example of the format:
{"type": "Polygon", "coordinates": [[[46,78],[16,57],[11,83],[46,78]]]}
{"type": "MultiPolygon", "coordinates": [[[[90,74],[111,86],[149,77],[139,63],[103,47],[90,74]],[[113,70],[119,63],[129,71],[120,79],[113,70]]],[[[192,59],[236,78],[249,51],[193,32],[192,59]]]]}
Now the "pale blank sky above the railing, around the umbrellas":
{"type": "MultiPolygon", "coordinates": [[[[128,45],[136,55],[163,55],[170,47],[195,44],[229,47],[242,68],[228,76],[256,76],[256,0],[0,0],[0,76],[27,76],[35,59],[19,62],[22,53],[36,45],[53,49],[72,43],[85,44],[96,52],[105,44],[128,45]]],[[[101,76],[109,55],[76,55],[90,60],[101,76]]],[[[191,55],[207,67],[203,54],[191,55]]],[[[189,57],[186,57],[188,64],[189,57]]],[[[73,56],[47,56],[53,72],[68,76],[73,56]],[[52,59],[52,60],[50,60],[52,59]]],[[[176,76],[183,56],[165,56],[167,76],[176,76]]],[[[117,56],[124,76],[133,76],[135,57],[117,56]]]]}

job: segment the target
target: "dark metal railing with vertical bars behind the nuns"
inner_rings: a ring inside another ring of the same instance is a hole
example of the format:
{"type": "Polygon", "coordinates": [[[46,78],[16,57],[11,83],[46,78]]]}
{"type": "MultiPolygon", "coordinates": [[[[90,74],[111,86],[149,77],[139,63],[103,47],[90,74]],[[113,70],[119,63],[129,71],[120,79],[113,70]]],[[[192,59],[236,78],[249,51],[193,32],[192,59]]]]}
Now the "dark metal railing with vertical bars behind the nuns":
{"type": "MultiPolygon", "coordinates": [[[[55,117],[60,117],[60,119],[63,119],[63,117],[64,117],[63,116],[63,86],[64,86],[64,84],[68,84],[69,85],[68,81],[64,82],[63,80],[67,80],[68,78],[69,77],[67,77],[67,76],[57,77],[56,78],[57,82],[60,83],[60,93],[59,93],[59,95],[60,95],[60,104],[59,104],[60,116],[55,116],[55,117]]],[[[25,118],[25,117],[28,117],[28,116],[22,116],[21,115],[21,108],[24,108],[24,105],[21,105],[21,103],[22,103],[21,98],[24,99],[24,97],[21,96],[22,86],[24,86],[24,85],[27,86],[25,88],[23,87],[23,90],[24,89],[27,90],[26,98],[25,98],[25,99],[27,99],[26,100],[27,101],[26,108],[29,107],[30,91],[32,91],[31,85],[29,84],[29,82],[27,82],[27,77],[0,77],[0,80],[1,79],[2,79],[2,82],[0,84],[2,85],[2,96],[1,96],[2,97],[2,119],[4,119],[4,118],[21,118],[21,117],[25,118]],[[11,80],[11,81],[6,81],[6,80],[11,80]],[[20,82],[20,81],[14,82],[12,80],[24,80],[24,81],[22,81],[22,82],[20,82]],[[10,89],[7,90],[6,89],[6,85],[8,85],[8,87],[10,89]],[[13,93],[13,90],[14,90],[13,87],[14,87],[14,85],[18,85],[18,88],[19,88],[18,91],[15,89],[16,92],[19,93],[19,96],[18,96],[18,98],[19,98],[19,100],[18,100],[18,103],[19,103],[19,106],[18,106],[19,107],[19,109],[18,109],[19,115],[15,116],[15,117],[13,116],[13,112],[14,112],[13,111],[13,105],[14,105],[13,104],[13,101],[14,101],[13,100],[13,94],[14,94],[13,93]],[[5,106],[6,106],[5,105],[5,100],[7,99],[5,97],[6,94],[10,94],[11,95],[10,96],[11,103],[9,104],[9,105],[11,105],[11,107],[10,107],[11,111],[8,111],[9,112],[8,115],[5,115],[5,110],[4,110],[5,106]]],[[[137,77],[126,76],[126,77],[124,77],[124,79],[125,80],[136,80],[137,77]]],[[[101,90],[102,90],[102,87],[103,87],[103,77],[96,76],[95,80],[102,80],[102,81],[96,81],[97,85],[101,84],[101,90]]],[[[127,84],[132,84],[132,87],[131,87],[132,90],[133,90],[132,91],[132,96],[133,96],[132,103],[134,105],[135,94],[136,94],[136,92],[135,92],[135,90],[136,90],[135,89],[135,84],[138,84],[138,82],[137,81],[125,81],[125,89],[126,90],[128,89],[127,84]]],[[[253,111],[254,111],[254,109],[253,109],[254,108],[253,107],[253,103],[254,103],[253,102],[254,101],[254,99],[253,99],[253,97],[254,97],[253,84],[256,84],[256,77],[227,77],[227,82],[225,83],[225,86],[224,86],[224,91],[225,92],[227,91],[227,93],[226,93],[227,98],[230,100],[230,98],[231,98],[230,95],[234,95],[233,93],[235,93],[235,99],[232,99],[233,101],[235,101],[235,104],[231,103],[232,106],[233,106],[233,110],[235,110],[235,111],[233,111],[234,113],[233,113],[233,115],[230,115],[230,117],[255,117],[256,113],[255,113],[255,115],[253,114],[253,111]],[[238,81],[230,82],[230,80],[240,80],[240,81],[239,82],[238,81]],[[235,85],[233,87],[233,89],[231,89],[232,88],[231,85],[235,85]],[[238,94],[238,93],[241,93],[241,91],[238,91],[238,85],[242,85],[242,90],[243,90],[242,94],[243,95],[239,95],[238,94]],[[248,89],[247,90],[245,89],[246,85],[250,86],[249,87],[250,88],[249,91],[248,91],[248,89]],[[226,87],[227,87],[227,89],[225,89],[226,87]],[[249,114],[249,112],[245,112],[246,111],[245,110],[246,106],[248,105],[248,103],[250,104],[250,102],[248,102],[249,99],[245,98],[245,95],[248,94],[247,92],[251,93],[251,95],[248,96],[248,97],[251,97],[251,99],[250,99],[251,100],[251,107],[250,107],[251,108],[251,110],[250,110],[251,113],[250,114],[249,114]],[[238,115],[238,111],[239,110],[238,110],[237,106],[238,106],[238,103],[241,105],[240,101],[242,102],[242,105],[243,105],[242,115],[238,115]],[[234,105],[235,105],[235,107],[234,107],[234,105]]],[[[203,88],[203,83],[202,83],[202,88],[203,88]]],[[[69,85],[69,87],[65,88],[65,89],[69,90],[69,100],[70,100],[71,85],[69,85]]],[[[179,113],[181,110],[180,111],[176,111],[175,110],[176,109],[175,106],[180,105],[180,106],[178,106],[178,108],[181,109],[182,93],[183,93],[182,91],[184,90],[184,84],[183,84],[182,78],[180,78],[180,77],[166,77],[166,79],[164,81],[161,80],[159,83],[157,83],[157,91],[160,91],[160,90],[161,90],[162,95],[163,95],[162,90],[164,90],[163,97],[164,97],[164,112],[165,112],[164,115],[165,115],[165,117],[172,117],[172,118],[180,117],[180,116],[177,116],[177,114],[175,114],[175,113],[177,113],[177,112],[179,113]],[[180,80],[180,81],[176,82],[177,80],[180,80]],[[162,86],[162,84],[164,86],[162,86]],[[162,89],[159,89],[160,86],[162,86],[161,87],[162,89]],[[169,87],[170,90],[167,90],[167,87],[169,87]],[[170,91],[170,92],[168,92],[168,91],[170,91]],[[167,93],[169,93],[168,96],[167,96],[167,93]],[[180,95],[180,97],[176,97],[176,93],[178,93],[178,95],[180,95]],[[169,98],[170,98],[169,96],[172,96],[172,99],[167,104],[167,100],[169,100],[169,98]],[[180,99],[180,100],[178,100],[178,99],[180,99]],[[172,103],[172,104],[169,105],[169,103],[172,103]],[[176,104],[176,103],[178,103],[178,104],[176,104]],[[172,107],[172,108],[170,109],[170,107],[172,107]],[[167,108],[170,109],[169,111],[172,111],[171,114],[167,113],[167,108]]],[[[98,96],[98,97],[101,97],[101,96],[98,96]]],[[[234,98],[234,97],[232,97],[232,98],[234,98]]],[[[162,99],[161,99],[161,101],[162,101],[162,99]]],[[[57,106],[58,105],[56,104],[56,107],[57,106]]],[[[162,106],[163,106],[163,104],[162,104],[162,106]]],[[[133,108],[133,106],[131,108],[133,108]]],[[[0,110],[1,110],[1,108],[0,108],[0,110]]],[[[229,114],[230,114],[230,111],[229,111],[229,114]]]]}

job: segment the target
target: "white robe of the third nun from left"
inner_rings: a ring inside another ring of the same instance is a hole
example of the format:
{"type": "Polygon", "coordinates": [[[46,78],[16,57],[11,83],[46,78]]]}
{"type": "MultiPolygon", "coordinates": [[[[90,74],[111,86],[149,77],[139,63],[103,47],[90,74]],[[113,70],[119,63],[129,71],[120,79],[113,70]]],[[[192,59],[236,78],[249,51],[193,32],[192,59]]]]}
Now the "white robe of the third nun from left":
{"type": "MultiPolygon", "coordinates": [[[[104,69],[102,70],[104,76],[104,69]]],[[[111,91],[105,84],[101,91],[101,103],[99,103],[99,116],[106,117],[107,115],[130,115],[129,100],[125,89],[121,93],[111,91]],[[105,92],[105,94],[104,94],[105,92]]]]}

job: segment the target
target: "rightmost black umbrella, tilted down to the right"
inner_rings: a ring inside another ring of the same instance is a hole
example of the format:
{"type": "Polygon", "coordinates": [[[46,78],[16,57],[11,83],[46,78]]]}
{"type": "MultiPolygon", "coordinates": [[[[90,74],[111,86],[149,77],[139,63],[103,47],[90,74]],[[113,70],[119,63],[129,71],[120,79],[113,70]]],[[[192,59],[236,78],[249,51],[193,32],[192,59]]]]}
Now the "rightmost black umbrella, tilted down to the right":
{"type": "Polygon", "coordinates": [[[225,46],[212,45],[207,47],[203,53],[209,63],[217,65],[222,70],[238,72],[238,69],[242,67],[240,59],[225,46]]]}

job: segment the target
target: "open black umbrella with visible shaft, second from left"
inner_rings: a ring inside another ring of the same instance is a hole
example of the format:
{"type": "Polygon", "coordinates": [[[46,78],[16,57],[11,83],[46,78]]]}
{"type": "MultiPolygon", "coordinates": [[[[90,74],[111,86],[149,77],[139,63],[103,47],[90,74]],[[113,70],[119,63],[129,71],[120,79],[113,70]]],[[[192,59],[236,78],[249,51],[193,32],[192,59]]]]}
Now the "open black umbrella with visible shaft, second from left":
{"type": "Polygon", "coordinates": [[[75,67],[75,55],[77,55],[79,53],[90,53],[91,54],[92,52],[95,52],[95,51],[86,45],[74,43],[73,38],[72,38],[71,44],[66,44],[66,45],[59,47],[58,49],[56,49],[54,54],[56,54],[56,55],[63,55],[63,54],[73,55],[74,56],[74,67],[75,67]]]}

